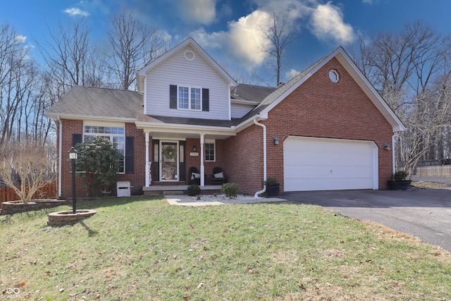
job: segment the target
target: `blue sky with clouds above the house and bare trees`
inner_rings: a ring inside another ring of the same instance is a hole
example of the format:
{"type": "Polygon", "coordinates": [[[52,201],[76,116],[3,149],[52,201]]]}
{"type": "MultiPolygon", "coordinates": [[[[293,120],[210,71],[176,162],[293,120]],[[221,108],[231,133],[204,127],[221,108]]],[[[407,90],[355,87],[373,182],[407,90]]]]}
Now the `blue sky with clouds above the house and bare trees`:
{"type": "MultiPolygon", "coordinates": [[[[290,44],[290,71],[307,68],[338,46],[346,49],[358,32],[395,33],[415,20],[423,20],[443,35],[451,34],[449,0],[16,0],[2,1],[0,23],[9,23],[25,43],[32,37],[49,40],[58,21],[86,16],[93,39],[101,44],[109,20],[121,6],[155,25],[174,46],[193,37],[211,56],[230,70],[264,69],[259,51],[259,27],[268,12],[290,10],[299,26],[299,39],[290,44]]],[[[38,51],[33,51],[39,56],[38,51]]],[[[39,59],[39,58],[38,58],[39,59]]]]}

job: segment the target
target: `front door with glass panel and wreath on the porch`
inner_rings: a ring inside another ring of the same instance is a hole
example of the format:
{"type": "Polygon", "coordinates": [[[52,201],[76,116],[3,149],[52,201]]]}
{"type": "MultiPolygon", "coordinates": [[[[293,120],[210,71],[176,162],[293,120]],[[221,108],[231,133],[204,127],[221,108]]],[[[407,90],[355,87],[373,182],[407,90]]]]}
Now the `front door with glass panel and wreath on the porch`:
{"type": "Polygon", "coordinates": [[[160,143],[160,180],[177,181],[179,179],[178,142],[161,141],[160,143]]]}

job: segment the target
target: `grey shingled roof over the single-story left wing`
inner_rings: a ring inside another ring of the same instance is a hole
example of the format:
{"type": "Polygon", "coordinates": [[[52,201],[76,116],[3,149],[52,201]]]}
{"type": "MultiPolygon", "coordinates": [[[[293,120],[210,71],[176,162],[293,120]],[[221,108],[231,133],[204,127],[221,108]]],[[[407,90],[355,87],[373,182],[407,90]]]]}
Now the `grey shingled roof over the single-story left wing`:
{"type": "Polygon", "coordinates": [[[137,114],[142,113],[142,101],[142,95],[135,91],[74,86],[45,112],[45,116],[134,122],[137,114]]]}

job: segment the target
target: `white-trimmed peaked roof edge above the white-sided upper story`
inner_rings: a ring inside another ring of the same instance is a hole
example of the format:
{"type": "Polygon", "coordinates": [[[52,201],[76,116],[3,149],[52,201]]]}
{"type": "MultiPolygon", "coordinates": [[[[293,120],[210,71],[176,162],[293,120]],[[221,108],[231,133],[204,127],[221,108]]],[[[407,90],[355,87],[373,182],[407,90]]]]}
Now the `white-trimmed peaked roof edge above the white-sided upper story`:
{"type": "Polygon", "coordinates": [[[171,58],[171,56],[176,54],[178,51],[188,46],[192,47],[194,51],[196,51],[197,54],[201,56],[202,59],[204,59],[204,61],[206,61],[206,63],[208,63],[211,66],[211,68],[214,68],[216,72],[219,75],[221,75],[221,77],[224,78],[226,82],[228,82],[230,87],[237,86],[237,82],[226,72],[226,70],[224,70],[218,63],[216,63],[216,61],[209,54],[207,54],[206,51],[202,49],[202,47],[200,47],[199,44],[197,44],[197,42],[194,41],[192,37],[188,37],[187,39],[183,40],[183,42],[173,47],[172,49],[166,51],[164,54],[162,54],[161,56],[159,56],[154,61],[149,63],[147,66],[144,66],[144,68],[141,68],[137,72],[138,91],[144,92],[143,85],[147,71],[151,70],[152,68],[155,68],[156,66],[159,66],[161,63],[171,58]]]}

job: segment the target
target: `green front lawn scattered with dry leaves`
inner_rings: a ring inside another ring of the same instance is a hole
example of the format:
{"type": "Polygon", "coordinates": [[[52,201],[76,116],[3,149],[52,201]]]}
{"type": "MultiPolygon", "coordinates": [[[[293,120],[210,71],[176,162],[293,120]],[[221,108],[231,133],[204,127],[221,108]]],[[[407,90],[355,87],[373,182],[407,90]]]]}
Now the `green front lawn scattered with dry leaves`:
{"type": "Polygon", "coordinates": [[[1,297],[19,300],[450,300],[451,255],[303,204],[130,197],[46,226],[0,216],[1,297]],[[19,288],[12,293],[8,288],[19,288]]]}

